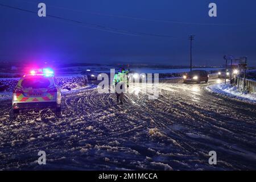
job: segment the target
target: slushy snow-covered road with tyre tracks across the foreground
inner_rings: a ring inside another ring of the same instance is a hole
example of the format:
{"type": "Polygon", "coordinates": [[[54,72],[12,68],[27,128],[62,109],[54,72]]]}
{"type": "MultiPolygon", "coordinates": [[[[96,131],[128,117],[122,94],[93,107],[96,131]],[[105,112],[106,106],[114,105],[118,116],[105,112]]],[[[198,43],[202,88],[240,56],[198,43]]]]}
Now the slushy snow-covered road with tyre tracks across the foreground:
{"type": "Polygon", "coordinates": [[[2,101],[0,169],[255,170],[256,105],[205,90],[216,82],[162,80],[157,100],[136,92],[124,105],[95,88],[65,93],[60,118],[44,109],[9,119],[11,101],[2,101]]]}

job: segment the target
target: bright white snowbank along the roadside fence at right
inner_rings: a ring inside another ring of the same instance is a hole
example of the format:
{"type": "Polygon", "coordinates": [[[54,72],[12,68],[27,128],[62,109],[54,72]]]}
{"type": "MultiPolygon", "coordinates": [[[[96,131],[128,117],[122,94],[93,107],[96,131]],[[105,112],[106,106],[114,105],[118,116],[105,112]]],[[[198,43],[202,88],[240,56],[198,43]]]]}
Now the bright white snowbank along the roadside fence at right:
{"type": "Polygon", "coordinates": [[[242,90],[238,90],[236,86],[231,86],[230,84],[214,84],[208,86],[207,90],[224,96],[237,98],[238,100],[256,103],[256,93],[243,92],[242,90]]]}

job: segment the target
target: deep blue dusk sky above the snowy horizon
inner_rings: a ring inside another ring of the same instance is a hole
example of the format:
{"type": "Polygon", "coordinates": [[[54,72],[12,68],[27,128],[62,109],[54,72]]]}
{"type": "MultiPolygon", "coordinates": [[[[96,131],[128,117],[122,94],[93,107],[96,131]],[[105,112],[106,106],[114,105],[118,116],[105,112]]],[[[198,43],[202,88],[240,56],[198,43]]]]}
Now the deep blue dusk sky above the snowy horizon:
{"type": "Polygon", "coordinates": [[[225,54],[256,65],[256,1],[0,0],[0,60],[222,65],[225,54]],[[37,15],[46,3],[47,17],[37,15]],[[208,5],[217,4],[210,18],[208,5]],[[82,23],[53,18],[59,16],[82,23]],[[139,32],[139,33],[138,33],[139,32]],[[156,36],[160,35],[160,36],[156,36]]]}

